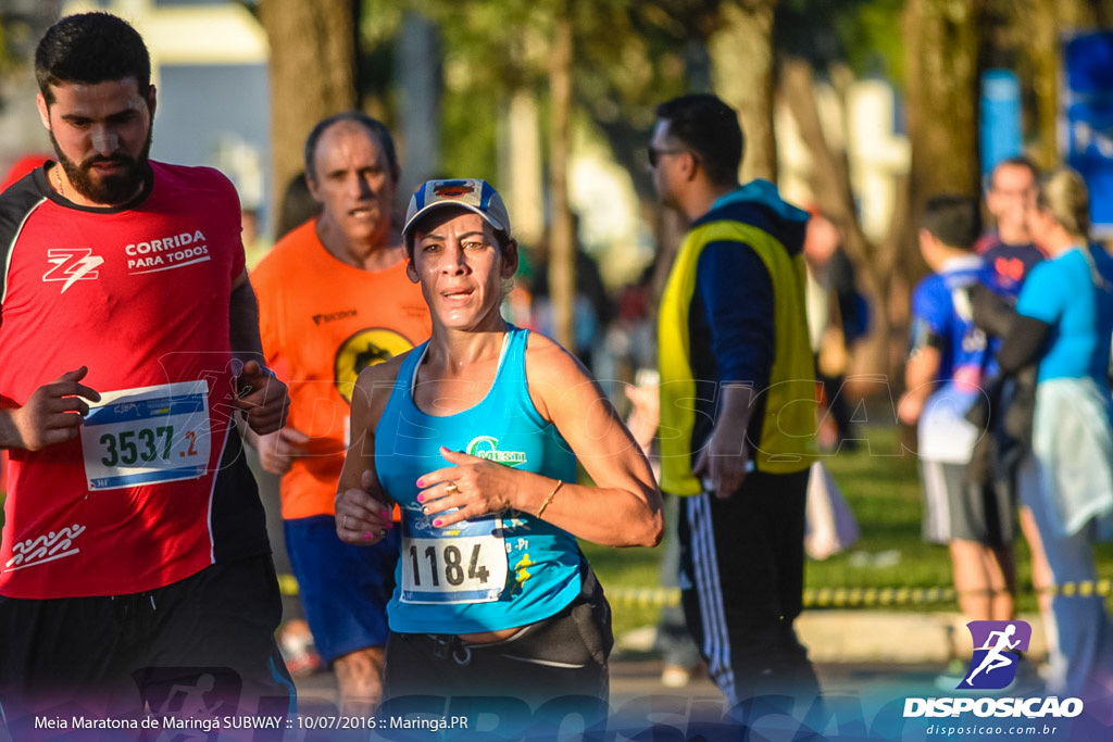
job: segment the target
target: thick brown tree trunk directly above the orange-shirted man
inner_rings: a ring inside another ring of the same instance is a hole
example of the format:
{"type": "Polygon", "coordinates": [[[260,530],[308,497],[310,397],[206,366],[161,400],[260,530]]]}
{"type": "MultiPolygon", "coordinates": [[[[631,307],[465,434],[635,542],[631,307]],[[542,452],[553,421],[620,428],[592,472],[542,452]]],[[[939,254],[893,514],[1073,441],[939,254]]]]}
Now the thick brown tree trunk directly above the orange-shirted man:
{"type": "Polygon", "coordinates": [[[263,0],[270,41],[270,151],[274,209],[302,170],[305,138],[332,113],[354,108],[355,9],[351,0],[263,0]]]}

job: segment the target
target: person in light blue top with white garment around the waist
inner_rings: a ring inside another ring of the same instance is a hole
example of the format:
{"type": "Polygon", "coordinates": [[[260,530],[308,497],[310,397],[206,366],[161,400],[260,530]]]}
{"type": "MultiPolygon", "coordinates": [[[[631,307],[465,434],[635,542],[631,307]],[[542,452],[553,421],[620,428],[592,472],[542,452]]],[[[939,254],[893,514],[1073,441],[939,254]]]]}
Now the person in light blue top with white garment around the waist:
{"type": "MultiPolygon", "coordinates": [[[[1040,486],[1022,491],[1024,504],[1032,508],[1054,584],[1092,584],[1093,542],[1113,516],[1106,377],[1113,271],[1103,248],[1089,245],[1089,195],[1077,172],[1063,168],[1041,182],[1028,226],[1051,258],[1024,283],[997,362],[1006,374],[1040,364],[1033,455],[1025,466],[1040,486]]],[[[1064,592],[1054,594],[1045,616],[1054,640],[1047,690],[1083,698],[1090,712],[1089,701],[1107,703],[1113,687],[1113,624],[1101,596],[1064,592]]]]}

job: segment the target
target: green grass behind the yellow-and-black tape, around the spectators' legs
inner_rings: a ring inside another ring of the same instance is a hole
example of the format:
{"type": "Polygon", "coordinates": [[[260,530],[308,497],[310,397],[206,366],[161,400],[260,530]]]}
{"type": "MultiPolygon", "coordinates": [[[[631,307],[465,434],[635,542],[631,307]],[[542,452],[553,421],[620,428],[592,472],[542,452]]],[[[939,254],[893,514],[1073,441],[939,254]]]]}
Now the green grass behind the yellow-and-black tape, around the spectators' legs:
{"type": "MultiPolygon", "coordinates": [[[[854,453],[828,456],[824,463],[839,484],[858,521],[857,543],[826,561],[808,560],[808,588],[951,587],[951,558],[945,546],[925,544],[920,537],[922,499],[916,457],[902,455],[894,428],[868,428],[868,445],[854,453]],[[884,557],[898,561],[885,565],[884,557]],[[884,555],[878,560],[878,555],[884,555]]],[[[584,553],[603,587],[653,587],[659,584],[661,550],[608,548],[583,544],[584,553]]],[[[1113,544],[1095,547],[1097,573],[1113,578],[1113,544]]],[[[1031,561],[1023,537],[1016,542],[1017,610],[1035,612],[1031,561]]],[[[657,623],[659,609],[612,601],[614,631],[657,623]]],[[[817,609],[818,610],[818,609],[817,609]]],[[[870,609],[859,609],[870,610],[870,609]]],[[[956,611],[954,603],[905,605],[906,611],[956,611]]]]}

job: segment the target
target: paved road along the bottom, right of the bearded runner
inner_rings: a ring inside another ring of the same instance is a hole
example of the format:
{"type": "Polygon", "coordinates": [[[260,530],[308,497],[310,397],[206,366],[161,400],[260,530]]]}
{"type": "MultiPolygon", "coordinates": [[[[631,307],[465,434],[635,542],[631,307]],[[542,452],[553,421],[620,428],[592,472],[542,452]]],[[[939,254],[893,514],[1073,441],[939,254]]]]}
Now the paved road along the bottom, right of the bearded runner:
{"type": "MultiPolygon", "coordinates": [[[[823,687],[820,703],[812,700],[762,699],[729,709],[718,689],[706,676],[696,677],[683,689],[660,683],[661,662],[648,655],[617,655],[611,661],[611,703],[605,730],[589,739],[626,740],[758,740],[785,742],[816,740],[829,742],[895,742],[896,740],[962,740],[983,742],[1097,742],[1113,740],[1113,716],[1101,721],[1086,706],[1078,719],[994,716],[965,713],[957,718],[905,719],[906,700],[964,696],[959,691],[940,690],[935,680],[938,664],[821,663],[816,665],[823,687]],[[786,705],[788,704],[788,705],[786,705]],[[749,728],[745,733],[743,726],[749,728]]],[[[334,677],[321,673],[298,681],[301,713],[336,714],[334,677]]],[[[1009,689],[1004,695],[1043,695],[1009,689]]],[[[968,694],[975,700],[986,693],[968,694]]],[[[1111,706],[1113,708],[1113,706],[1111,706]]],[[[446,710],[451,714],[451,709],[446,710]]],[[[1110,715],[1110,712],[1105,712],[1110,715]]],[[[446,719],[447,716],[445,716],[446,719]]],[[[385,721],[381,723],[386,723],[385,721]]],[[[536,720],[506,720],[485,714],[469,722],[467,731],[387,731],[370,734],[371,740],[568,740],[580,739],[578,716],[565,718],[556,728],[536,720]]],[[[342,738],[336,734],[305,734],[303,739],[367,740],[368,733],[342,738]]]]}

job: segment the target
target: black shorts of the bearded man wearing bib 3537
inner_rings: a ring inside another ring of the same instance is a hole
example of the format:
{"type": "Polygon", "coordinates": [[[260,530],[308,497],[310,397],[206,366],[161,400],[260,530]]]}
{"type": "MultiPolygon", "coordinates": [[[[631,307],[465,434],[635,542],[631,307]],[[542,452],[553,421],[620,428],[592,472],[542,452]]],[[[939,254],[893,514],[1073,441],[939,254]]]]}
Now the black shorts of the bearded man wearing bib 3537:
{"type": "MultiPolygon", "coordinates": [[[[269,555],[215,564],[131,595],[0,596],[0,704],[12,739],[36,713],[67,718],[285,715],[294,684],[275,644],[269,555]]],[[[30,728],[27,728],[30,729],[30,728]]]]}

